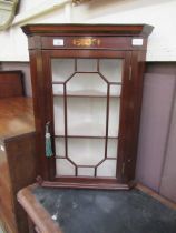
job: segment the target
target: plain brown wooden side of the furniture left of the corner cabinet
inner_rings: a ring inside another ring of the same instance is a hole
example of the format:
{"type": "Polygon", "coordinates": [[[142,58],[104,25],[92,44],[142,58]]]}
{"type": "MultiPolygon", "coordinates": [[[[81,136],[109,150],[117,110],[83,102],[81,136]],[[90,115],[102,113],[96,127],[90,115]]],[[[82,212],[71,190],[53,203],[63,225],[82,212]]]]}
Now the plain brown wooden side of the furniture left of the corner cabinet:
{"type": "Polygon", "coordinates": [[[19,233],[28,232],[26,213],[17,202],[17,192],[32,184],[37,176],[35,133],[22,135],[7,142],[7,154],[12,184],[13,206],[19,233]],[[20,220],[20,221],[19,221],[20,220]]]}

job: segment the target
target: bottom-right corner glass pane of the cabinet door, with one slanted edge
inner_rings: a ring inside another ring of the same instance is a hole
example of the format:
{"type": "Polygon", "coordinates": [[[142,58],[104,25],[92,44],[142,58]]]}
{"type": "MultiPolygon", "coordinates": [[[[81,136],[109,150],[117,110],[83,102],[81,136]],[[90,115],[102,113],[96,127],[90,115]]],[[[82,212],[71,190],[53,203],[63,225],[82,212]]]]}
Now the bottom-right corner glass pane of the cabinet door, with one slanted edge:
{"type": "Polygon", "coordinates": [[[97,176],[116,176],[116,160],[106,160],[97,168],[97,176]]]}

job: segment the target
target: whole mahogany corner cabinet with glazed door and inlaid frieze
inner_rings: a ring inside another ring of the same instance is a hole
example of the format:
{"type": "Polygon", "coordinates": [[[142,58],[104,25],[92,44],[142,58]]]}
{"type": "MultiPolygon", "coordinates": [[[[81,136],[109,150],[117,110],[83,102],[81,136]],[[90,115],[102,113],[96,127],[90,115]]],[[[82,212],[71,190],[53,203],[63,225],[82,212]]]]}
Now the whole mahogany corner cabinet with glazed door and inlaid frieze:
{"type": "Polygon", "coordinates": [[[153,27],[29,24],[22,30],[29,42],[39,183],[129,189],[153,27]],[[46,128],[52,156],[46,155],[46,128]]]}

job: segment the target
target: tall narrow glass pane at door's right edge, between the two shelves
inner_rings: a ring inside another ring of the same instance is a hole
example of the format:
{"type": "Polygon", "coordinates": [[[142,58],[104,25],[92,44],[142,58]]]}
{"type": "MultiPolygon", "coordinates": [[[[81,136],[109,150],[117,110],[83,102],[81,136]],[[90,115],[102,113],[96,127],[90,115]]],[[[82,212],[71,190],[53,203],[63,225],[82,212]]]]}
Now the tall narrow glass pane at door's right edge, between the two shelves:
{"type": "Polygon", "coordinates": [[[120,99],[110,98],[109,101],[109,136],[118,136],[120,99]]]}

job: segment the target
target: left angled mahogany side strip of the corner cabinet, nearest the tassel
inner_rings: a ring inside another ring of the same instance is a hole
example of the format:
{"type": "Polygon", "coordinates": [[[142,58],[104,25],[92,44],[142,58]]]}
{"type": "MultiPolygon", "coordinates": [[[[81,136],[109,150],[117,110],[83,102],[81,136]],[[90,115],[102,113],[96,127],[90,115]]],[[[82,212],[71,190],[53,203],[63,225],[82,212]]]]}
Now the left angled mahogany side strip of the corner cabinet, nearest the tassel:
{"type": "Polygon", "coordinates": [[[33,94],[33,113],[36,124],[36,150],[39,158],[38,171],[45,179],[49,179],[48,161],[45,156],[45,122],[46,122],[46,87],[42,71],[41,51],[30,51],[30,69],[33,94]]]}

